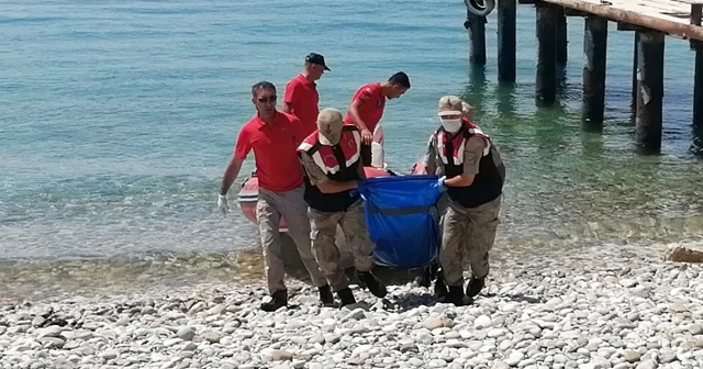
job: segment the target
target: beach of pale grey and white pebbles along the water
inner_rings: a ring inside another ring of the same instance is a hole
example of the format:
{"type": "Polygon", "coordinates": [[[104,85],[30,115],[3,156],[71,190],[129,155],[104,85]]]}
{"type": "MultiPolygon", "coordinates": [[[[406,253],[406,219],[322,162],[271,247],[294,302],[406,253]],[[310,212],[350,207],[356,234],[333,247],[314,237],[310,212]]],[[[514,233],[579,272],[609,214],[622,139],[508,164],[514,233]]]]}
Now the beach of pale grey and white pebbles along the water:
{"type": "Polygon", "coordinates": [[[702,368],[703,266],[504,253],[470,306],[413,283],[258,310],[261,284],[0,305],[0,368],[702,368]]]}

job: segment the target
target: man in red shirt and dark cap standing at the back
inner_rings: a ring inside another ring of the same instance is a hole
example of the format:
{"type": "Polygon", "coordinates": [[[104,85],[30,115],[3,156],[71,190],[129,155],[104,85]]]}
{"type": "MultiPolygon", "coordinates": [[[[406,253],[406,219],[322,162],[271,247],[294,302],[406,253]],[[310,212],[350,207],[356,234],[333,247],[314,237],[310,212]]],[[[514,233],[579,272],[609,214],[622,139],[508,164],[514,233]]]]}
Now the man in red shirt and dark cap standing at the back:
{"type": "Polygon", "coordinates": [[[303,125],[303,137],[308,137],[317,128],[315,122],[320,110],[317,107],[320,94],[315,81],[322,78],[325,70],[330,68],[325,64],[324,56],[310,53],[305,56],[303,71],[286,85],[283,112],[298,116],[303,125]]]}

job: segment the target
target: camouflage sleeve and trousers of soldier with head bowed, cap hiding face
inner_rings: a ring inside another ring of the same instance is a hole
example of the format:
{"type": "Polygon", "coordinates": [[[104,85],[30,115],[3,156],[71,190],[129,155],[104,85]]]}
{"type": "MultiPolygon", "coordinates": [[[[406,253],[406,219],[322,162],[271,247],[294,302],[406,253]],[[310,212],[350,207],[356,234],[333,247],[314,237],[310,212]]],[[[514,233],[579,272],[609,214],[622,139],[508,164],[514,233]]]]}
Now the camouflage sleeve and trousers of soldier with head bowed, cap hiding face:
{"type": "MultiPolygon", "coordinates": [[[[325,180],[327,176],[317,167],[310,155],[302,155],[302,163],[308,174],[308,178],[313,183],[325,180]]],[[[332,289],[339,291],[348,287],[349,281],[342,265],[342,254],[335,244],[335,238],[342,236],[337,232],[337,226],[342,228],[346,243],[342,243],[348,249],[342,253],[350,253],[354,257],[354,266],[357,271],[371,270],[373,266],[373,243],[369,238],[364,217],[364,203],[359,199],[346,211],[323,212],[309,209],[310,217],[310,239],[312,241],[312,251],[320,265],[320,270],[327,278],[332,289]]]]}

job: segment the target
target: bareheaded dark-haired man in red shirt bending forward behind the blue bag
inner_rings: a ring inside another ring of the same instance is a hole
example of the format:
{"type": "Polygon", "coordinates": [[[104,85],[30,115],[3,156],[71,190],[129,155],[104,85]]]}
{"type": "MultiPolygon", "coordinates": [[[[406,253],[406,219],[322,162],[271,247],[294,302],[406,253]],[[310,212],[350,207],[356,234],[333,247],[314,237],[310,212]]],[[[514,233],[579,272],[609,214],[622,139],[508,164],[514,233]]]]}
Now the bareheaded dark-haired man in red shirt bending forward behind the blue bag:
{"type": "Polygon", "coordinates": [[[386,99],[398,99],[410,89],[410,78],[399,71],[386,82],[366,83],[352,98],[344,118],[345,124],[356,124],[361,131],[361,165],[371,165],[371,142],[378,122],[383,116],[386,99]]]}

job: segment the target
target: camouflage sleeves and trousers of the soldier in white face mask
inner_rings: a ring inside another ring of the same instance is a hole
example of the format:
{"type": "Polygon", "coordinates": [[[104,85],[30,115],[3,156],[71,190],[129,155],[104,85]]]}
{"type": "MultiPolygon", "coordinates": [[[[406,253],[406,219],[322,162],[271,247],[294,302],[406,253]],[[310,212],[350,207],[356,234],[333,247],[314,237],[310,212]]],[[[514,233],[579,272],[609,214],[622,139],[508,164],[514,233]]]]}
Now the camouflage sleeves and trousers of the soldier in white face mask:
{"type": "MultiPolygon", "coordinates": [[[[444,163],[437,154],[436,138],[432,136],[427,144],[424,165],[427,174],[445,175],[444,163]]],[[[501,164],[500,154],[494,149],[493,160],[496,167],[501,164]]],[[[479,161],[483,156],[483,139],[472,136],[467,139],[464,149],[464,172],[478,174],[479,161]]],[[[503,168],[500,166],[500,168],[503,168]]],[[[504,172],[502,177],[505,178],[504,172]]],[[[465,208],[449,199],[442,216],[442,250],[439,262],[447,286],[464,284],[464,257],[471,266],[476,278],[484,278],[489,273],[489,251],[493,247],[501,197],[476,208],[465,208]]]]}

